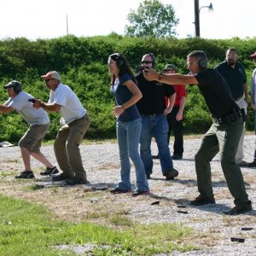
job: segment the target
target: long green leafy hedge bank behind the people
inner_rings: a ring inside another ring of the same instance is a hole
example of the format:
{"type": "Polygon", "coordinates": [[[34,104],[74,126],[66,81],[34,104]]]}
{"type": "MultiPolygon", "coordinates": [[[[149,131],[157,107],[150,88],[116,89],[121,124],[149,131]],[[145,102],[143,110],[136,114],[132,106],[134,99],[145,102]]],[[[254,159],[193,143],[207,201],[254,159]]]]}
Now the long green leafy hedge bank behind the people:
{"type": "MultiPolygon", "coordinates": [[[[176,64],[179,73],[188,73],[186,56],[191,50],[203,49],[209,58],[209,67],[224,60],[225,51],[235,47],[247,70],[248,90],[253,61],[248,58],[255,51],[256,38],[232,38],[227,40],[202,38],[128,38],[112,33],[108,36],[77,38],[69,35],[63,38],[4,39],[0,41],[0,82],[6,84],[12,79],[23,84],[23,90],[33,96],[48,100],[40,76],[49,70],[61,73],[64,84],[69,85],[79,96],[92,119],[86,137],[111,138],[115,136],[115,120],[112,116],[113,96],[109,92],[108,55],[122,52],[135,70],[143,54],[153,52],[160,71],[166,63],[176,64]]],[[[207,106],[196,86],[187,86],[188,99],[184,112],[186,133],[207,131],[212,123],[207,106]]],[[[7,100],[2,90],[0,102],[7,100]]],[[[253,111],[248,108],[247,130],[253,130],[253,111]]],[[[50,113],[51,125],[46,139],[54,139],[59,128],[59,113],[50,113]]],[[[17,143],[26,123],[19,114],[0,115],[0,141],[17,143]]]]}

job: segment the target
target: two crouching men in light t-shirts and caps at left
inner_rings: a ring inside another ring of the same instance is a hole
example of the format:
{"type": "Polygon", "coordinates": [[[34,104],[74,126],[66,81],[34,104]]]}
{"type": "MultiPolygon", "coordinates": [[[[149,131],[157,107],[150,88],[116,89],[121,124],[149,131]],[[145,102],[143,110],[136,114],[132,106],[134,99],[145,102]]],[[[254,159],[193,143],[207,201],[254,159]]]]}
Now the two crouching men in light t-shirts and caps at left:
{"type": "Polygon", "coordinates": [[[19,146],[25,171],[15,178],[33,178],[30,158],[31,155],[40,161],[46,169],[41,175],[57,174],[59,171],[41,153],[41,143],[49,129],[47,112],[61,113],[61,129],[54,143],[55,157],[62,173],[52,177],[53,181],[65,181],[68,185],[88,183],[82,158],[79,153],[79,144],[90,126],[87,110],[83,108],[78,96],[67,85],[61,84],[61,76],[51,71],[42,76],[49,89],[49,101],[40,99],[22,91],[22,84],[11,81],[4,85],[9,99],[0,105],[1,113],[10,113],[16,110],[29,124],[29,128],[20,139],[19,146]]]}

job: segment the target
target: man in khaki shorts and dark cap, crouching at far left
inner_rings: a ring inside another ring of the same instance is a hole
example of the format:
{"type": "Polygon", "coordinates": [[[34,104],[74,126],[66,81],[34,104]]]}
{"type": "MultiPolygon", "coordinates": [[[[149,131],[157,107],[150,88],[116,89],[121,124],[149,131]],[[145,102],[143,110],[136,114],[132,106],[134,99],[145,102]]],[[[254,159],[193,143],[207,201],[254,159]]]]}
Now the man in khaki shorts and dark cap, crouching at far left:
{"type": "Polygon", "coordinates": [[[20,175],[15,176],[15,178],[34,177],[30,162],[31,155],[46,166],[46,170],[41,172],[41,175],[58,173],[59,171],[57,168],[53,166],[40,151],[41,142],[49,129],[48,114],[43,108],[32,108],[32,103],[30,101],[33,99],[33,96],[22,91],[20,82],[11,81],[9,84],[3,85],[3,88],[7,90],[9,99],[7,102],[3,103],[3,105],[0,105],[0,113],[11,113],[16,110],[30,125],[19,142],[25,171],[20,172],[20,175]]]}

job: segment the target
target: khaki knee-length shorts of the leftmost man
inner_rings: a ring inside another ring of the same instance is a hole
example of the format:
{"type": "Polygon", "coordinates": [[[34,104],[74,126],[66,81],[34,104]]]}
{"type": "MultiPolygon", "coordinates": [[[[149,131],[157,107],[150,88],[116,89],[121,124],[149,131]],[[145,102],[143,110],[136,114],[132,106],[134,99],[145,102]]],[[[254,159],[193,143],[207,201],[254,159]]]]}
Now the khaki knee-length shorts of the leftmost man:
{"type": "Polygon", "coordinates": [[[41,148],[41,143],[44,138],[45,133],[49,129],[49,124],[47,125],[31,125],[26,133],[21,137],[19,146],[26,148],[30,152],[39,153],[41,148]]]}

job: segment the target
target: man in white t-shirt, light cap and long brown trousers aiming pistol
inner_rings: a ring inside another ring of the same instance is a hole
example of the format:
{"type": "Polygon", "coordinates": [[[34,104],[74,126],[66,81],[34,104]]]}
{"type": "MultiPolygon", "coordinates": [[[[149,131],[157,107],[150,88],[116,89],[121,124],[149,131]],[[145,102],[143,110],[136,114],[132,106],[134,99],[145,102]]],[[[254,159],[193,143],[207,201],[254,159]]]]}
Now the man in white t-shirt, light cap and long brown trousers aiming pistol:
{"type": "Polygon", "coordinates": [[[34,108],[44,108],[47,112],[61,113],[61,129],[54,143],[55,157],[62,173],[53,181],[65,181],[67,185],[88,183],[79,145],[90,126],[90,118],[78,96],[66,84],[61,84],[61,75],[50,71],[41,76],[49,89],[47,103],[36,100],[34,108]]]}

